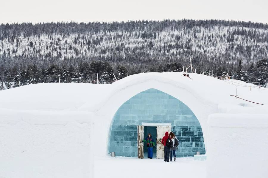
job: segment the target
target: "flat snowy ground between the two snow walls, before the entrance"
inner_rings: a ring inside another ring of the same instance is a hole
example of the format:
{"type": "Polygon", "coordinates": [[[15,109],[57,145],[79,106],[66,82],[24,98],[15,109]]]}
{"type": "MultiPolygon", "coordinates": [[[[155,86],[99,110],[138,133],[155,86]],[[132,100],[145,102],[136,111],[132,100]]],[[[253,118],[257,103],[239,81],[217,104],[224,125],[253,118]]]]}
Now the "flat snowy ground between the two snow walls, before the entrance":
{"type": "Polygon", "coordinates": [[[105,158],[95,159],[95,178],[118,177],[206,177],[206,161],[194,161],[194,158],[177,158],[176,162],[164,162],[163,159],[105,158]],[[149,171],[148,171],[149,170],[149,171]]]}

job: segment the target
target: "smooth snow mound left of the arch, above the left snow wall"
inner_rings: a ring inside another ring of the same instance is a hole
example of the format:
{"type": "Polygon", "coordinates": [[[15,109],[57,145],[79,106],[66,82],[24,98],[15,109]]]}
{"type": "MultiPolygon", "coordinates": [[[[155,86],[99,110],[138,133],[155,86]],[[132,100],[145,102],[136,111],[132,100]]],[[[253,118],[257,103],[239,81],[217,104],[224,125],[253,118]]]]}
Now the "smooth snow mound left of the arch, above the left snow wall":
{"type": "MultiPolygon", "coordinates": [[[[70,110],[92,101],[91,96],[108,85],[40,83],[0,91],[0,108],[70,110]]],[[[96,101],[94,101],[96,102],[96,101]]]]}

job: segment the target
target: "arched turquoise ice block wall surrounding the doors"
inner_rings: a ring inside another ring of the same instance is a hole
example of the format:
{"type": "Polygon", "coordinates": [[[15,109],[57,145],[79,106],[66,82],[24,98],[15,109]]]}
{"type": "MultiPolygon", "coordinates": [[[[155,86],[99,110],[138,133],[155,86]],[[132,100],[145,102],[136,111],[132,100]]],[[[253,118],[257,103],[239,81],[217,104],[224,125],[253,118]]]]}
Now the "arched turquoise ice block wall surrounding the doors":
{"type": "Polygon", "coordinates": [[[172,124],[172,131],[180,141],[177,157],[193,156],[197,151],[205,154],[202,129],[191,109],[154,88],[133,96],[117,110],[110,128],[109,152],[137,157],[137,125],[143,122],[172,124]]]}

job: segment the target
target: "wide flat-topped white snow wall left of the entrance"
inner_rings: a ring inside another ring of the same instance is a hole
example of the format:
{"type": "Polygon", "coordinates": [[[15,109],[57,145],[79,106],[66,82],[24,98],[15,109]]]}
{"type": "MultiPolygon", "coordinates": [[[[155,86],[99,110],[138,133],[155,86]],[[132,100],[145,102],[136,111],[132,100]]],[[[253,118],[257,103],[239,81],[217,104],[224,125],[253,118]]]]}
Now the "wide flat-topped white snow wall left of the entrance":
{"type": "Polygon", "coordinates": [[[0,177],[92,177],[91,118],[0,109],[0,177]]]}

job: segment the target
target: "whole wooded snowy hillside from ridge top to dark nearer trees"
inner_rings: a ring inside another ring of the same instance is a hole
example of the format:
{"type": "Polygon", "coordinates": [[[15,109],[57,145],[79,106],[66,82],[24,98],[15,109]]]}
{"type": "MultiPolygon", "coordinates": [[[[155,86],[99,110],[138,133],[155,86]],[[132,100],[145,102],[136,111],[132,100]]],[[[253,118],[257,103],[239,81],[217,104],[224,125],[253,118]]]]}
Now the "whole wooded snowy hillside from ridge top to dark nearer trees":
{"type": "MultiPolygon", "coordinates": [[[[221,20],[1,25],[2,57],[115,63],[177,61],[235,64],[267,57],[267,25],[221,20]],[[250,28],[249,28],[250,26],[250,28]],[[227,57],[228,56],[228,57],[227,57]]],[[[50,63],[50,62],[49,62],[50,63]]],[[[38,62],[38,66],[40,63],[38,62]]],[[[202,66],[203,67],[203,66],[202,66]]]]}

